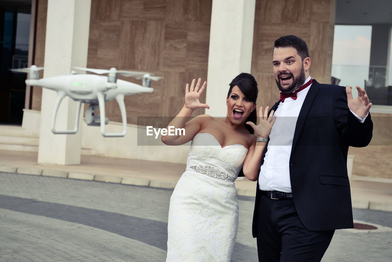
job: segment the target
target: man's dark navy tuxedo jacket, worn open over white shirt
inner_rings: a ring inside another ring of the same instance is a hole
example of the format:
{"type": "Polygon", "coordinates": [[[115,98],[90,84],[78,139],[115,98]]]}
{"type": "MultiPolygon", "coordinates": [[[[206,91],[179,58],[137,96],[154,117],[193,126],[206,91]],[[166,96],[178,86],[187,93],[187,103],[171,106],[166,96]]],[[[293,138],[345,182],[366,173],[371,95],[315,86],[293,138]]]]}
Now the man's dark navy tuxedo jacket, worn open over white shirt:
{"type": "MultiPolygon", "coordinates": [[[[271,110],[276,111],[279,103],[271,110]]],[[[361,123],[348,109],[345,87],[313,81],[299,112],[288,163],[294,205],[307,229],[353,227],[347,151],[348,146],[367,146],[372,130],[370,114],[361,123]]],[[[257,237],[259,194],[257,188],[253,237],[257,237]]]]}

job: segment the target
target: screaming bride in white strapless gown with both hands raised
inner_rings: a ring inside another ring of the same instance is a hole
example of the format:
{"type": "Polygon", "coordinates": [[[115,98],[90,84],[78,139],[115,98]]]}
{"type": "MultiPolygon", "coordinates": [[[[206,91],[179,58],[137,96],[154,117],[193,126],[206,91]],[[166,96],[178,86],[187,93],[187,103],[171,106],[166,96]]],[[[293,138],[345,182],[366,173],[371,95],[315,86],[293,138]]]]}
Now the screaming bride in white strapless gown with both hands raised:
{"type": "MultiPolygon", "coordinates": [[[[257,82],[241,73],[230,83],[226,98],[227,116],[199,115],[209,108],[199,101],[207,82],[200,88],[185,87],[185,105],[169,123],[185,128],[180,136],[162,136],[167,145],[192,140],[187,167],[173,191],[167,225],[167,262],[229,262],[238,229],[238,201],[234,180],[241,168],[246,178],[258,179],[258,169],[275,118],[267,117],[268,106],[256,125],[257,82]],[[260,137],[260,138],[258,138],[260,137]]],[[[260,107],[259,114],[262,113],[260,107]]]]}

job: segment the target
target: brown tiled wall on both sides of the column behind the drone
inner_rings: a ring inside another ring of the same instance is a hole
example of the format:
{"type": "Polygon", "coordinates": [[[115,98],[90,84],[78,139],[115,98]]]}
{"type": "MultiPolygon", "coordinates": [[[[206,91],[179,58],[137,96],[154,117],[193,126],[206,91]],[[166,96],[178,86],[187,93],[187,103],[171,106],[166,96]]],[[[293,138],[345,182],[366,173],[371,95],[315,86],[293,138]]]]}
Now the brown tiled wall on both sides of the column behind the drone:
{"type": "MultiPolygon", "coordinates": [[[[39,0],[36,64],[44,64],[47,0],[39,0]]],[[[138,116],[175,116],[185,84],[207,79],[212,0],[92,0],[87,67],[149,71],[164,79],[154,92],[125,97],[127,121],[138,116]]],[[[119,76],[141,84],[141,80],[119,76]]],[[[41,108],[34,88],[33,109],[41,108]]],[[[205,103],[205,94],[201,98],[205,103]]],[[[194,114],[203,114],[199,109],[194,114]]],[[[121,122],[118,104],[106,104],[110,121],[121,122]]],[[[167,124],[167,123],[166,123],[167,124]]],[[[163,124],[162,124],[163,125],[163,124]]]]}

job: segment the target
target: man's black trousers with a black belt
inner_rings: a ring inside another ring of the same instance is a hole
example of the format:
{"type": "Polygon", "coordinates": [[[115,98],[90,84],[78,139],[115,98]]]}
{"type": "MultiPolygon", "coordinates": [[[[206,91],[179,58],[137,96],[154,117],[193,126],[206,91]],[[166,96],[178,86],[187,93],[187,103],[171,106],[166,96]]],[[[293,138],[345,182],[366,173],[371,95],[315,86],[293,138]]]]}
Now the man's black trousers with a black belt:
{"type": "Polygon", "coordinates": [[[259,262],[321,261],[335,231],[306,229],[292,199],[274,200],[261,192],[258,196],[261,198],[257,235],[259,262]]]}

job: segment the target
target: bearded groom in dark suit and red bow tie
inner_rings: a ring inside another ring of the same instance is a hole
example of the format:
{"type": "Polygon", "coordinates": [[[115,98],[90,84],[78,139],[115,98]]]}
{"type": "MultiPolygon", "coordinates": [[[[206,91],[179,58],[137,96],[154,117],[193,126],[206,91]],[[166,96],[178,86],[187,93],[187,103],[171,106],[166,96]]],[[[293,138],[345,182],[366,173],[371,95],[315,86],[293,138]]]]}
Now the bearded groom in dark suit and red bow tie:
{"type": "Polygon", "coordinates": [[[261,161],[253,216],[259,261],[320,261],[335,229],[352,228],[348,146],[372,138],[364,89],[310,77],[306,42],[279,38],[272,66],[281,99],[261,161]]]}

